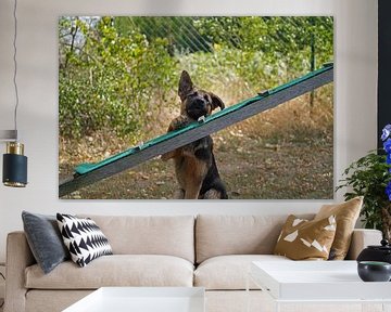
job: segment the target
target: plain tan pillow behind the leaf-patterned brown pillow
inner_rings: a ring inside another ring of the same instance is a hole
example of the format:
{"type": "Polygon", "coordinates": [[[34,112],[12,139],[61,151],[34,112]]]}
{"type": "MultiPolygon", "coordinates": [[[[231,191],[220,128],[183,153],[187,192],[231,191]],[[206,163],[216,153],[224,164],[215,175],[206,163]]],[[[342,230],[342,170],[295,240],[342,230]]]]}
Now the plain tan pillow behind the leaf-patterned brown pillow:
{"type": "Polygon", "coordinates": [[[336,216],[337,232],[331,246],[330,260],[343,260],[346,257],[352,239],[354,225],[363,206],[363,196],[352,198],[342,204],[324,205],[314,220],[336,216]]]}

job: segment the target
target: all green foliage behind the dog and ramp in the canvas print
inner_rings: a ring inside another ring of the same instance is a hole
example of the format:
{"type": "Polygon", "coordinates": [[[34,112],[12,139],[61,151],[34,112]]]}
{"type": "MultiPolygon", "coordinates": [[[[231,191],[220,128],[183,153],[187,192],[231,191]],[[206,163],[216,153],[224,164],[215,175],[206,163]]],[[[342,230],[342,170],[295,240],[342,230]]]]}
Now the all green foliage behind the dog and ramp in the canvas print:
{"type": "Polygon", "coordinates": [[[146,126],[175,105],[182,69],[203,88],[235,91],[228,98],[235,102],[287,82],[311,70],[315,56],[317,64],[332,60],[332,17],[61,17],[60,135],[80,139],[109,130],[134,142],[146,139],[146,126]]]}

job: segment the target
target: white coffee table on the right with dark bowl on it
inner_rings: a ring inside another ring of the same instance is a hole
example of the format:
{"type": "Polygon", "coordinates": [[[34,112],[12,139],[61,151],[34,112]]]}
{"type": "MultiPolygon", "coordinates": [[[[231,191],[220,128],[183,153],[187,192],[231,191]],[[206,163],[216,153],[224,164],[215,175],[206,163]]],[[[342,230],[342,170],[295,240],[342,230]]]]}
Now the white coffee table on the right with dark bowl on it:
{"type": "Polygon", "coordinates": [[[336,302],[361,303],[362,309],[378,303],[380,311],[391,311],[391,283],[363,282],[356,261],[256,261],[249,276],[269,295],[276,311],[281,303],[336,302]]]}

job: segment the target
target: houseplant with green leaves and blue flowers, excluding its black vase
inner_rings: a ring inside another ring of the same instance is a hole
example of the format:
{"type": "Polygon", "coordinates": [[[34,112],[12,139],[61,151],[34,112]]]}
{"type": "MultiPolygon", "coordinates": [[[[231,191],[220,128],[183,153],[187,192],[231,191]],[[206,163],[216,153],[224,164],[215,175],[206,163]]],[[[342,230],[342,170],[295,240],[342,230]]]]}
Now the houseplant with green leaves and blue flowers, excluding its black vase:
{"type": "Polygon", "coordinates": [[[383,151],[369,152],[343,172],[345,179],[336,191],[348,187],[345,200],[364,196],[361,216],[366,229],[378,229],[391,238],[391,125],[382,130],[383,151]],[[386,152],[386,153],[383,153],[386,152]]]}

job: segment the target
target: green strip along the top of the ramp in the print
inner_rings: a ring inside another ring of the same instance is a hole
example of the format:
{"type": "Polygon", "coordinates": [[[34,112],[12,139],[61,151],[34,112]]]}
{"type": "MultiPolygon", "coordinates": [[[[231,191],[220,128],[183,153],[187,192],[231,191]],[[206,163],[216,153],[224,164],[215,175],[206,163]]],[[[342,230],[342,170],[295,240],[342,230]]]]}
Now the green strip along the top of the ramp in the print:
{"type": "Polygon", "coordinates": [[[225,108],[223,110],[219,110],[219,112],[217,112],[215,114],[212,114],[211,116],[206,117],[204,119],[204,121],[192,122],[187,127],[184,127],[181,129],[177,129],[175,131],[172,131],[172,132],[165,133],[163,135],[156,136],[156,138],[152,139],[152,140],[150,140],[150,141],[148,141],[148,142],[146,142],[146,143],[143,143],[141,145],[131,147],[131,148],[126,150],[126,151],[124,151],[122,153],[118,153],[118,154],[113,155],[113,156],[111,156],[109,158],[105,158],[102,161],[94,162],[94,164],[81,164],[81,165],[79,165],[79,166],[77,166],[75,168],[75,173],[76,174],[86,174],[88,172],[91,172],[91,171],[93,171],[93,170],[96,170],[98,168],[104,167],[108,164],[114,162],[114,161],[116,161],[118,159],[122,159],[122,158],[124,158],[126,156],[136,154],[138,151],[148,148],[148,147],[150,147],[152,145],[155,145],[155,144],[157,144],[160,142],[166,141],[166,140],[172,139],[174,136],[177,136],[178,134],[184,133],[186,131],[189,131],[190,129],[194,129],[194,128],[199,127],[202,123],[209,122],[211,120],[215,120],[215,119],[217,119],[217,118],[219,118],[222,116],[225,116],[225,115],[228,115],[228,114],[230,114],[232,112],[236,112],[236,110],[242,108],[243,106],[247,106],[247,105],[249,105],[251,103],[254,103],[254,102],[256,102],[256,101],[258,101],[261,99],[264,99],[266,96],[273,96],[274,94],[276,94],[276,93],[278,93],[278,92],[280,92],[280,91],[282,91],[285,89],[288,89],[288,88],[290,88],[292,86],[295,86],[298,83],[301,83],[301,82],[303,82],[303,81],[305,81],[305,80],[307,80],[310,78],[313,78],[313,77],[315,77],[317,75],[320,75],[320,74],[331,69],[332,67],[333,67],[333,64],[328,63],[324,67],[321,67],[320,69],[311,72],[305,76],[302,76],[302,77],[300,77],[298,79],[293,79],[293,80],[291,80],[291,81],[289,81],[289,82],[287,82],[285,84],[281,84],[279,87],[274,88],[274,89],[270,89],[270,90],[268,90],[266,92],[263,92],[263,93],[258,94],[257,96],[244,100],[244,101],[242,101],[242,102],[240,102],[238,104],[231,105],[231,106],[229,106],[229,107],[227,107],[227,108],[225,108]]]}

